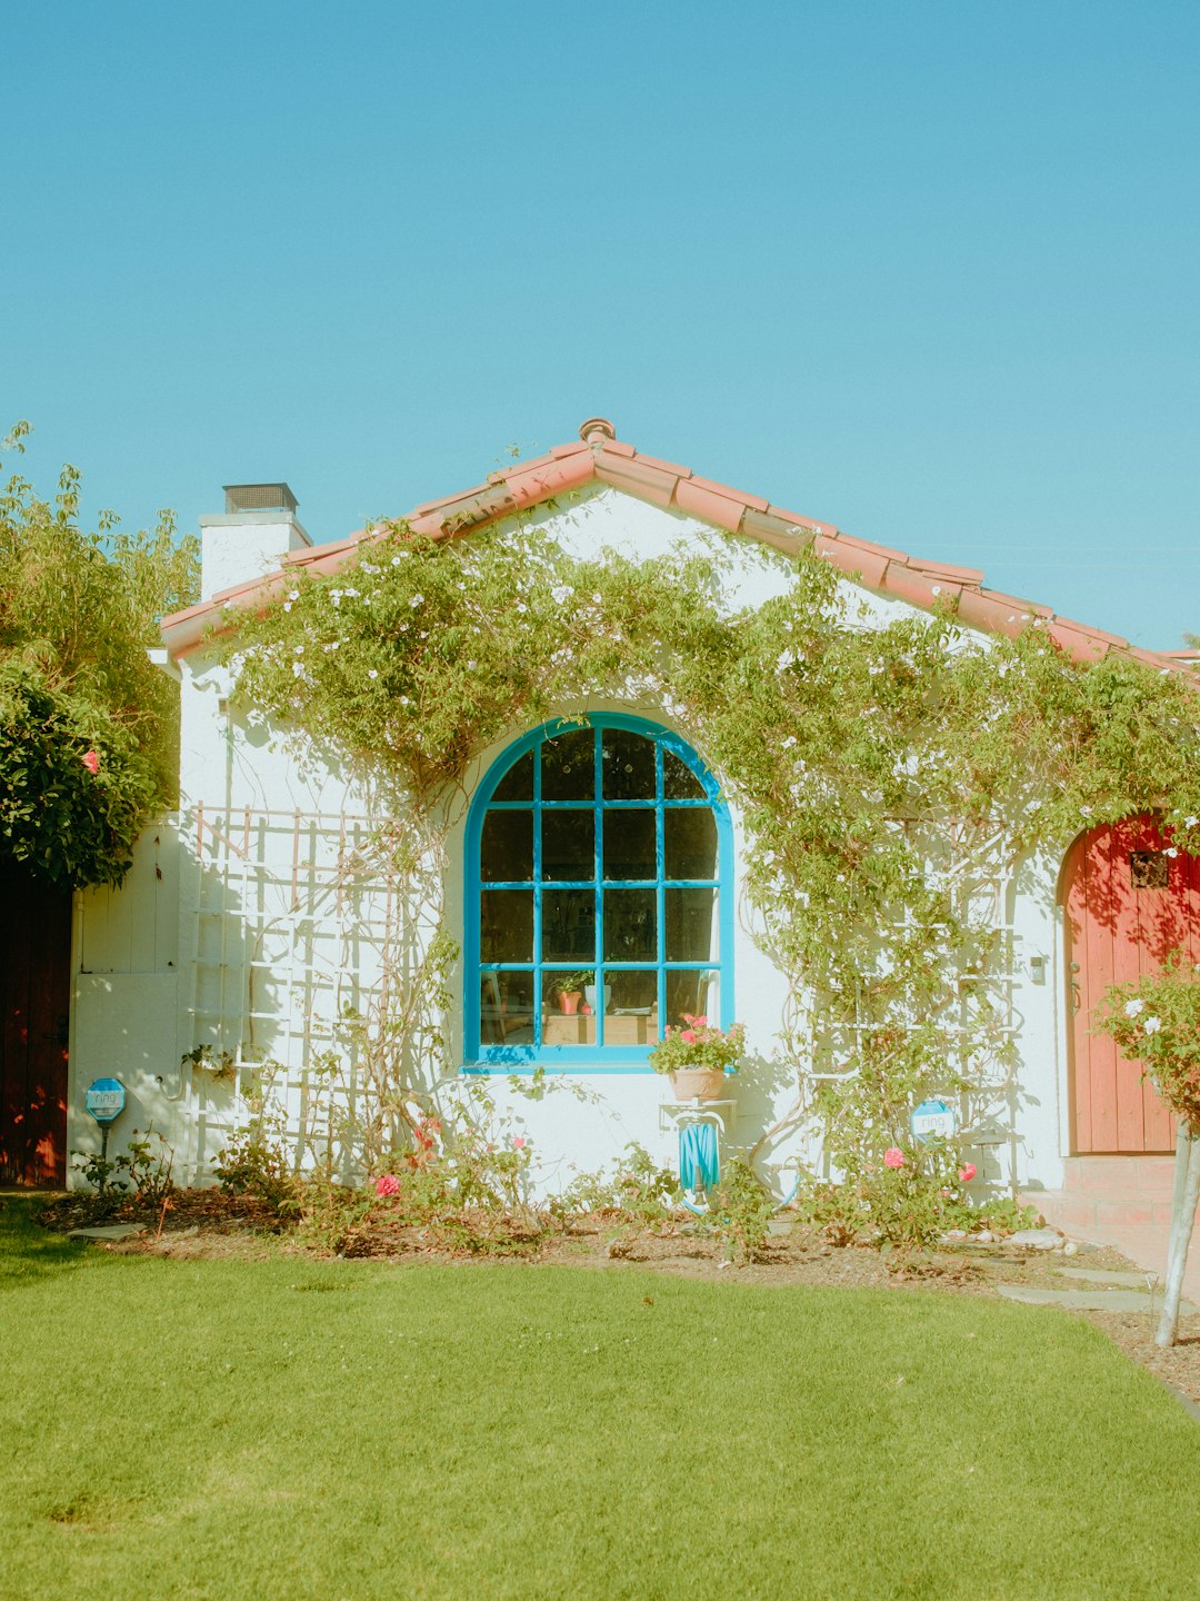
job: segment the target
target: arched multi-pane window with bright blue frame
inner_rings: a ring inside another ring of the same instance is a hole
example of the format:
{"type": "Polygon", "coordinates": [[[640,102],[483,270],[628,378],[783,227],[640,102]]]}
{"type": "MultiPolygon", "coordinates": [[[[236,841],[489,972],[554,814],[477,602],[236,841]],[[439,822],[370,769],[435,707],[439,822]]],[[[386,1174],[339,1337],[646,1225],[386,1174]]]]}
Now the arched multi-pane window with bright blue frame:
{"type": "Polygon", "coordinates": [[[680,738],[547,724],[467,823],[467,1069],[629,1071],[685,1013],[733,1021],[731,829],[680,738]]]}

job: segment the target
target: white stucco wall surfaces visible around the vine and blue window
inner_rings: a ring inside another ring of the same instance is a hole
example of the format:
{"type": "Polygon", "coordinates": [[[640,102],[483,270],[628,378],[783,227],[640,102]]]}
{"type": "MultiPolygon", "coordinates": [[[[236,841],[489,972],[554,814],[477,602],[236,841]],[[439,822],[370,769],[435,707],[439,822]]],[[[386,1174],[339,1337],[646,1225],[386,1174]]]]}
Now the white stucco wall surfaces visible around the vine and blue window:
{"type": "MultiPolygon", "coordinates": [[[[696,519],[606,488],[558,511],[542,511],[539,522],[576,556],[613,548],[646,559],[666,554],[680,538],[715,540],[725,549],[731,543],[728,535],[696,519]]],[[[502,527],[498,536],[504,536],[502,527]]],[[[742,559],[726,589],[731,607],[762,604],[786,589],[784,564],[749,541],[736,541],[738,548],[742,559]]],[[[245,548],[240,554],[245,557],[245,548]]],[[[218,557],[219,552],[214,564],[218,557]]],[[[218,573],[219,565],[211,572],[218,573]]],[[[842,584],[862,605],[864,626],[923,615],[902,602],[870,596],[848,580],[842,584]]],[[[211,1172],[211,1158],[237,1106],[227,1085],[213,1084],[203,1073],[181,1071],[181,1053],[202,1042],[235,1053],[245,1053],[251,1042],[270,1050],[288,1065],[290,1106],[296,1108],[306,1065],[318,1044],[306,1015],[338,1004],[357,969],[370,981],[376,954],[370,937],[347,922],[344,908],[334,908],[328,897],[322,900],[318,890],[320,882],[328,882],[322,873],[338,852],[338,828],[346,828],[339,820],[349,817],[354,828],[355,818],[370,815],[368,792],[328,752],[309,746],[298,759],[294,741],[253,709],[230,709],[229,671],[211,653],[192,653],[181,669],[178,828],[146,836],[123,890],[80,897],[72,1106],[82,1105],[83,1085],[91,1077],[117,1073],[131,1092],[131,1105],[114,1143],[125,1129],[144,1127],[154,1117],[155,1127],[179,1146],[181,1174],[190,1180],[211,1172]],[[298,813],[307,833],[301,833],[298,813]]],[[[645,701],[597,700],[587,709],[632,711],[674,725],[661,708],[645,701]]],[[[510,736],[525,732],[514,728],[510,736]]],[[[702,730],[678,727],[677,732],[704,756],[702,730]]],[[[507,743],[498,741],[480,754],[467,794],[507,743]]],[[[450,932],[459,940],[464,821],[466,817],[458,820],[451,839],[445,887],[450,932]]],[[[734,833],[741,839],[736,813],[734,833]]],[[[1013,999],[1022,1053],[1018,1174],[1022,1182],[1032,1178],[1048,1186],[1059,1182],[1059,1153],[1066,1148],[1056,871],[1056,861],[1029,865],[1011,906],[1018,980],[1013,999]],[[1032,956],[1048,959],[1045,985],[1032,981],[1032,956]]],[[[368,906],[363,916],[370,922],[371,892],[363,893],[368,906]]],[[[789,1076],[773,1066],[787,986],[744,922],[741,882],[734,897],[736,1015],[747,1028],[752,1065],[738,1084],[741,1122],[730,1132],[733,1148],[757,1138],[797,1093],[789,1076]]],[[[462,985],[459,967],[454,975],[459,997],[462,985]]],[[[461,1028],[459,1005],[450,1018],[456,1060],[461,1060],[461,1028]]],[[[669,1092],[658,1076],[606,1069],[573,1074],[563,1084],[530,1100],[514,1092],[507,1077],[488,1079],[501,1113],[534,1142],[546,1185],[557,1188],[570,1169],[598,1167],[619,1156],[630,1140],[664,1162],[674,1159],[675,1135],[659,1114],[669,1092]]],[[[85,1145],[91,1134],[90,1119],[72,1114],[70,1143],[85,1145]]],[[[795,1137],[774,1153],[781,1161],[797,1154],[813,1156],[802,1151],[795,1137]]],[[[1006,1151],[998,1154],[1008,1161],[1006,1151]]]]}

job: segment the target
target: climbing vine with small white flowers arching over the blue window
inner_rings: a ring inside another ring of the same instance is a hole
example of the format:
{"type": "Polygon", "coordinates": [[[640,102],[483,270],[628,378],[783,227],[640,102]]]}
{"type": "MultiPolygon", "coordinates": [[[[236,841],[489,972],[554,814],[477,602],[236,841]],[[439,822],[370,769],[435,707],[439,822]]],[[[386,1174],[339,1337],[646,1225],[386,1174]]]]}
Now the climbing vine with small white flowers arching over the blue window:
{"type": "Polygon", "coordinates": [[[883,1085],[866,1142],[846,1134],[861,1087],[821,1095],[866,1164],[909,1138],[890,1076],[920,1095],[1011,1071],[997,885],[1136,812],[1200,852],[1200,701],[1133,658],[1074,663],[1037,616],[1014,639],[952,604],[875,616],[808,554],[741,544],[773,594],[739,607],[733,554],[578,559],[534,527],[386,525],[357,565],[230,613],[227,650],[243,703],[387,788],[426,861],[494,741],[602,698],[675,720],[746,829],[747,913],[792,989],[782,1055],[883,1085]]]}

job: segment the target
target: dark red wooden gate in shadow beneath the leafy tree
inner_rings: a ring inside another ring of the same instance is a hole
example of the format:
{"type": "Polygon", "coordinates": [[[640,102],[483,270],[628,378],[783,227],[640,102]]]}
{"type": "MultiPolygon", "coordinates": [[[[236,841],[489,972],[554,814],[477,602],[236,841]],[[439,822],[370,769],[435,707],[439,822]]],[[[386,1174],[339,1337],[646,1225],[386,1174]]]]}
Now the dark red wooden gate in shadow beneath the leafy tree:
{"type": "Polygon", "coordinates": [[[0,865],[0,1183],[67,1170],[70,890],[0,865]]]}

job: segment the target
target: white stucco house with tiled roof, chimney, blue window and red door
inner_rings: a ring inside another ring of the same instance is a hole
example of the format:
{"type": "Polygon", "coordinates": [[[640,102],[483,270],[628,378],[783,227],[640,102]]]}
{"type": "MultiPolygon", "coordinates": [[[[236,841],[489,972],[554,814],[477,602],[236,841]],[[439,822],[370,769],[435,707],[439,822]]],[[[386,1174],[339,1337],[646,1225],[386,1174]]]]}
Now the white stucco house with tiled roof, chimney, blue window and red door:
{"type": "MultiPolygon", "coordinates": [[[[746,554],[730,576],[742,604],[787,581],[749,559],[755,543],[813,544],[878,620],[954,594],[962,624],[981,634],[1013,631],[1032,612],[1078,658],[1131,650],[987,589],[981,572],[850,538],[648,456],[603,419],[408,520],[469,540],[518,514],[576,554],[725,540],[734,557],[746,554]]],[[[386,893],[347,871],[374,823],[371,794],[318,751],[298,759],[282,730],[238,708],[210,634],[227,602],[253,602],[298,568],[349,568],[373,535],[312,544],[286,485],[243,485],[224,516],[202,519],[202,600],[163,623],[162,666],[181,685],[181,805],[147,829],[122,889],[75,898],[67,1087],[69,1148],[96,1143],[83,1092],[117,1074],[130,1101],[118,1142],[122,1129],[154,1122],[176,1148],[176,1177],[198,1183],[237,1121],[237,1074],[262,1055],[282,1063],[298,1126],[334,1020],[347,1004],[366,1007],[389,938],[386,893]],[[182,1060],[200,1045],[227,1053],[234,1077],[182,1060]]],[[[683,1012],[736,1018],[750,1055],[770,1063],[786,1004],[739,895],[741,820],[704,764],[702,730],[616,693],[587,711],[586,728],[512,728],[478,756],[440,885],[461,948],[445,1018],[451,1077],[488,1081],[528,1134],[546,1186],[629,1142],[672,1159],[677,1114],[645,1061],[664,1023],[683,1012]],[[554,1005],[555,975],[570,967],[594,981],[602,967],[603,1001],[571,1013],[554,1005]],[[523,1093],[538,1065],[584,1093],[523,1093]]],[[[1093,831],[997,887],[1019,1093],[997,1090],[986,1116],[965,1113],[981,1142],[974,1159],[997,1183],[1058,1190],[1072,1159],[1171,1148],[1154,1093],[1078,1021],[1115,977],[1157,959],[1147,909],[1197,903],[1190,858],[1163,857],[1163,873],[1155,863],[1147,874],[1144,858],[1160,850],[1149,820],[1093,831]],[[1102,938],[1101,881],[1106,897],[1142,913],[1102,938]]],[[[1190,937],[1200,938],[1195,927],[1190,937]]],[[[795,1093],[789,1077],[746,1074],[725,1113],[726,1148],[752,1145],[795,1093]]],[[[805,1138],[792,1129],[765,1153],[768,1167],[813,1159],[805,1138]]]]}

